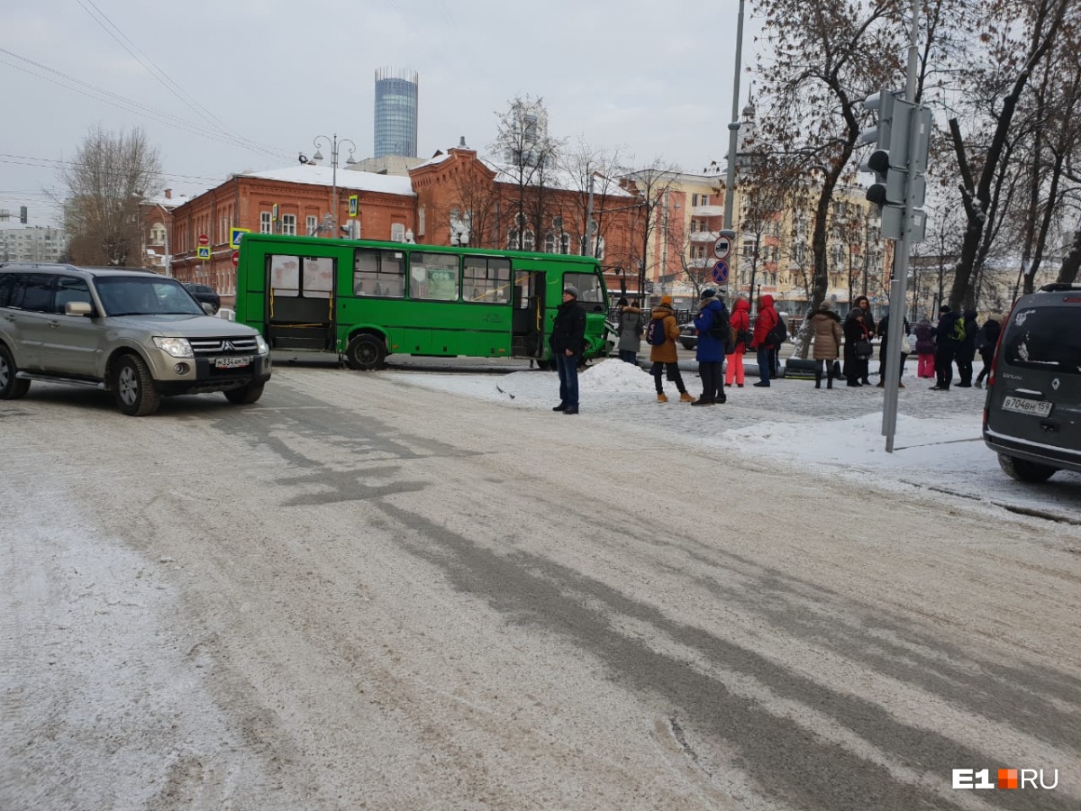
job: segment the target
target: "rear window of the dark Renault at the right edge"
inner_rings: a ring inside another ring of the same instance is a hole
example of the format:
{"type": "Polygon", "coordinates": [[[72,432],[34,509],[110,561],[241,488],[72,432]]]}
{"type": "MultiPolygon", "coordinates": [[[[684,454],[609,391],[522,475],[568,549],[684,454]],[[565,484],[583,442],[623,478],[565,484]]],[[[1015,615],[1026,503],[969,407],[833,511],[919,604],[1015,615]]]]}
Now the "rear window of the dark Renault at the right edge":
{"type": "Polygon", "coordinates": [[[1076,307],[1026,308],[1014,313],[1002,341],[1006,363],[1081,374],[1081,331],[1076,307]]]}

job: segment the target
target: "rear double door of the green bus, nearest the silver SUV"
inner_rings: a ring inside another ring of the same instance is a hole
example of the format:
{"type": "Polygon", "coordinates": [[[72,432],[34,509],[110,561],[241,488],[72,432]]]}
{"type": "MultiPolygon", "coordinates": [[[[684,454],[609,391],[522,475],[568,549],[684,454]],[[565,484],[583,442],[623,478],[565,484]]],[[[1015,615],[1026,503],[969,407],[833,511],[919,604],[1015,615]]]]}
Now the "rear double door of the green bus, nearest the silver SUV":
{"type": "Polygon", "coordinates": [[[334,265],[329,256],[268,257],[266,337],[271,348],[335,348],[334,265]]]}

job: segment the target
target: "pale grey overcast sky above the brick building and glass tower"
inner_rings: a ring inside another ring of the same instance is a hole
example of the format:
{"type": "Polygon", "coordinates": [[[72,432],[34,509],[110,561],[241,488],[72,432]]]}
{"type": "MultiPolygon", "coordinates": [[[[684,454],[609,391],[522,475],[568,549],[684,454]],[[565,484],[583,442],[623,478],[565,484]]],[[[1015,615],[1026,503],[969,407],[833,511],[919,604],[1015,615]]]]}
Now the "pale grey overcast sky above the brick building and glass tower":
{"type": "MultiPolygon", "coordinates": [[[[31,224],[55,221],[41,189],[57,185],[56,162],[94,124],[142,127],[166,185],[184,194],[288,165],[320,134],[351,138],[368,157],[378,67],[419,74],[422,157],[461,136],[483,151],[495,114],[526,93],[544,98],[552,135],[618,147],[638,164],[700,170],[728,151],[738,0],[5,6],[0,209],[27,204],[31,224]]],[[[748,3],[745,66],[757,25],[748,3]]],[[[743,99],[749,81],[745,72],[743,99]]]]}

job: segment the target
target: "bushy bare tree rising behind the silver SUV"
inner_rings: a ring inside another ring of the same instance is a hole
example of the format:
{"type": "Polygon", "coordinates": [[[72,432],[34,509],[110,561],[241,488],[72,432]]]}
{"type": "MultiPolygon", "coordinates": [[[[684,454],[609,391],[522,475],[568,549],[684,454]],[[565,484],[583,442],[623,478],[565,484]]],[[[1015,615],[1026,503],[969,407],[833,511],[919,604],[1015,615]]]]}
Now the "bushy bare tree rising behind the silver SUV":
{"type": "Polygon", "coordinates": [[[162,188],[161,161],[146,133],[94,128],[59,174],[67,186],[65,227],[71,236],[71,260],[141,265],[139,202],[162,188]]]}

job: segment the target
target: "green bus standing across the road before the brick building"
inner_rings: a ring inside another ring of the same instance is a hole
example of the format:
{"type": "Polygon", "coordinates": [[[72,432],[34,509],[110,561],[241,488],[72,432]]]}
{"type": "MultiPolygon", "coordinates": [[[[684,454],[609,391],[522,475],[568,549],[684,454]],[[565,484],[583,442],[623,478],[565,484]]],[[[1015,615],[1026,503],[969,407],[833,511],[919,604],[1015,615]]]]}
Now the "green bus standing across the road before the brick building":
{"type": "Polygon", "coordinates": [[[547,368],[568,284],[586,310],[585,357],[608,354],[608,291],[590,256],[244,234],[235,309],[271,349],[334,351],[351,369],[388,355],[547,368]]]}

